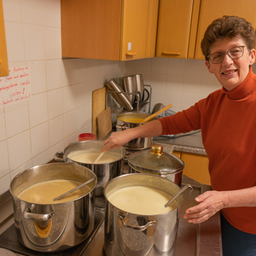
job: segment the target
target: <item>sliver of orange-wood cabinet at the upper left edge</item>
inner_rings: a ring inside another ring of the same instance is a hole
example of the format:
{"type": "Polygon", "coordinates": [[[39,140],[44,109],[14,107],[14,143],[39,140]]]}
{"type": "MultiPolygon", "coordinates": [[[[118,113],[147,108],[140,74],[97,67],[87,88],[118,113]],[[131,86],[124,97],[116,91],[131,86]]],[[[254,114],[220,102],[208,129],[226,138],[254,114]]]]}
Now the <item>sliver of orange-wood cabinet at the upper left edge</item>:
{"type": "Polygon", "coordinates": [[[3,3],[0,0],[0,77],[9,75],[4,19],[3,19],[3,3]]]}

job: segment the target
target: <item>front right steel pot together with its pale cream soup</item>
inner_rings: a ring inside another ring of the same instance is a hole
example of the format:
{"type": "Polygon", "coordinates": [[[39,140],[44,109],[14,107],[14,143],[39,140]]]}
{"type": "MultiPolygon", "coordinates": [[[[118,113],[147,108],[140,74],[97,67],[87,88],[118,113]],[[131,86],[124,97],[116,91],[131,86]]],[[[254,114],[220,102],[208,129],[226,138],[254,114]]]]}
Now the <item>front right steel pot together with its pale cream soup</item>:
{"type": "Polygon", "coordinates": [[[152,174],[133,173],[113,178],[107,199],[104,251],[108,256],[172,256],[183,195],[165,207],[180,188],[152,174]]]}

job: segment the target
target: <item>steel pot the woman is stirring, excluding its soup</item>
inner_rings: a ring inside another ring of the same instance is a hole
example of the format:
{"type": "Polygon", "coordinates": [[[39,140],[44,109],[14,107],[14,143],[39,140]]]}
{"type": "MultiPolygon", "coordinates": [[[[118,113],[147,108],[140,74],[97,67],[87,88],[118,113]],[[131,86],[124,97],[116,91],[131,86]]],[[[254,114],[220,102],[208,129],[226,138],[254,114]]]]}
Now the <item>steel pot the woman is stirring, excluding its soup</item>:
{"type": "Polygon", "coordinates": [[[69,154],[79,151],[85,150],[87,153],[98,153],[100,154],[101,149],[103,148],[103,141],[95,140],[95,141],[83,141],[78,143],[72,143],[64,149],[64,152],[57,152],[55,154],[55,160],[65,161],[65,162],[75,162],[81,166],[85,166],[95,172],[96,177],[98,178],[96,185],[96,196],[103,195],[103,189],[105,185],[111,180],[113,177],[117,177],[120,175],[120,171],[123,164],[123,158],[125,156],[125,148],[114,148],[108,151],[108,154],[113,154],[117,157],[118,160],[109,162],[106,164],[91,164],[91,163],[82,163],[79,161],[75,161],[69,158],[69,154]],[[62,156],[62,158],[60,157],[62,156]]]}

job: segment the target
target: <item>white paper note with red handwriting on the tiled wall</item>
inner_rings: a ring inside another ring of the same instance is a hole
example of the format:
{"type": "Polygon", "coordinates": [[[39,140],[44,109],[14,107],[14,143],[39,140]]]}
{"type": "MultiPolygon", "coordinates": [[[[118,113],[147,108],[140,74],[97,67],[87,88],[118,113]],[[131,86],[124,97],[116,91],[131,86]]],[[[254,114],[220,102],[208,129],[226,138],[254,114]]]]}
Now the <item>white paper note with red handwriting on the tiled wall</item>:
{"type": "Polygon", "coordinates": [[[8,77],[0,77],[0,108],[28,101],[31,97],[30,67],[12,67],[8,77]]]}

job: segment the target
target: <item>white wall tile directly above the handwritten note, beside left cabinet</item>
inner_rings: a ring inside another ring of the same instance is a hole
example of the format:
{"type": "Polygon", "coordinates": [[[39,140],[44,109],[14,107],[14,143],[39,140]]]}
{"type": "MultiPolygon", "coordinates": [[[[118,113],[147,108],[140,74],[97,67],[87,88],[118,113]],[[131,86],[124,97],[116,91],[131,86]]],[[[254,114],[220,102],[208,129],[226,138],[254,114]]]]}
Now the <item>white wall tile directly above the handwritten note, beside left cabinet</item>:
{"type": "Polygon", "coordinates": [[[5,21],[5,35],[9,61],[25,61],[22,32],[22,24],[5,21]]]}

